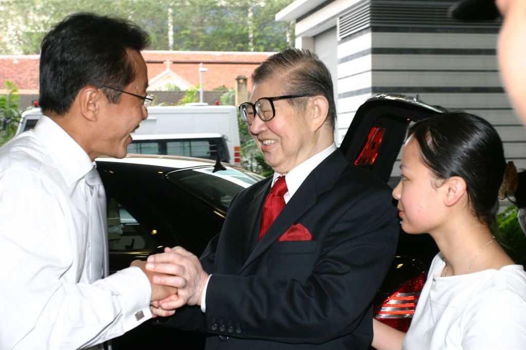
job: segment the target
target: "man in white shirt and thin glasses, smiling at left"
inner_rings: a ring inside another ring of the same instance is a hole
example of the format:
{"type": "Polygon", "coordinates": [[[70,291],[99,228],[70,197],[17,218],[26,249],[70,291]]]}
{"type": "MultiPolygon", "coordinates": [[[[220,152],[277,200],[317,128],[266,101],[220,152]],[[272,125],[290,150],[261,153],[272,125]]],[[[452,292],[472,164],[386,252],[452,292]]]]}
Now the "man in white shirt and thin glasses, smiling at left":
{"type": "Polygon", "coordinates": [[[107,275],[105,194],[95,158],[122,158],[147,118],[147,34],[72,15],[42,42],[34,131],[0,148],[0,348],[74,349],[122,335],[175,289],[144,263],[107,275]]]}

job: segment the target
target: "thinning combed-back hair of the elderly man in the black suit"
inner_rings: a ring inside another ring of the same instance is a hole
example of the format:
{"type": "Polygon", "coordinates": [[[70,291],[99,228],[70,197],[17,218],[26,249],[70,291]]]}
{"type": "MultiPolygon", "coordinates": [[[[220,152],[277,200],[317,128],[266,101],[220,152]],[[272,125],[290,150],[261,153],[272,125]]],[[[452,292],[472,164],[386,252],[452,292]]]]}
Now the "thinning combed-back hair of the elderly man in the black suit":
{"type": "MultiPolygon", "coordinates": [[[[327,119],[332,129],[336,126],[336,102],[332,78],[327,66],[316,54],[306,49],[288,48],[267,58],[252,73],[254,84],[277,76],[287,79],[287,95],[322,95],[329,101],[327,119]]],[[[265,96],[272,97],[272,96],[265,96]]],[[[290,104],[302,107],[301,99],[289,99],[290,104]]]]}

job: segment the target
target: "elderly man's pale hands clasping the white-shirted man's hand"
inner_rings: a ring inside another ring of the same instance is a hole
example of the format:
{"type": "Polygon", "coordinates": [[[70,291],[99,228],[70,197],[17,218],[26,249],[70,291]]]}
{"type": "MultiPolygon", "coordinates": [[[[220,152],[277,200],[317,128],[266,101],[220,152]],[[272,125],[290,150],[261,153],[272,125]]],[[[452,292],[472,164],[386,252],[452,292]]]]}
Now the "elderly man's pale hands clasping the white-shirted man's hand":
{"type": "Polygon", "coordinates": [[[208,274],[203,271],[203,266],[194,254],[180,246],[165,248],[164,253],[148,256],[146,269],[171,275],[155,275],[153,282],[178,289],[176,297],[160,301],[160,306],[165,310],[174,310],[185,304],[201,305],[208,274]]]}

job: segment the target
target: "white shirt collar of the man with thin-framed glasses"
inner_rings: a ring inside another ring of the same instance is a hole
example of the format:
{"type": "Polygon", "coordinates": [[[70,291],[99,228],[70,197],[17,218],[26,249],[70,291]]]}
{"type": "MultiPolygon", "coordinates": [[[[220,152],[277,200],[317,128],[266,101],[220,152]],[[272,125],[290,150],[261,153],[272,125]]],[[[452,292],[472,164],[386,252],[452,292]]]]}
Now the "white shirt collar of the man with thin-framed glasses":
{"type": "Polygon", "coordinates": [[[34,133],[57,164],[67,184],[83,178],[95,166],[86,151],[49,117],[42,116],[38,120],[34,133]]]}

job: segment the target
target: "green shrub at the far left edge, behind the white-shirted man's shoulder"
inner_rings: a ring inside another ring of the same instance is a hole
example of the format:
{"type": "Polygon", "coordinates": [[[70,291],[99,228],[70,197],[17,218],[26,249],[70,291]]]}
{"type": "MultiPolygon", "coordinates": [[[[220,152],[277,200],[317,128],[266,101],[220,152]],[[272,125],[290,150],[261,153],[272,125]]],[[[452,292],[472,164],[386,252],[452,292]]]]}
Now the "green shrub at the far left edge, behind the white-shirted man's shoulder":
{"type": "Polygon", "coordinates": [[[5,89],[9,91],[8,94],[0,96],[0,146],[15,135],[22,114],[18,107],[20,97],[15,94],[18,91],[15,84],[6,81],[5,89]]]}

